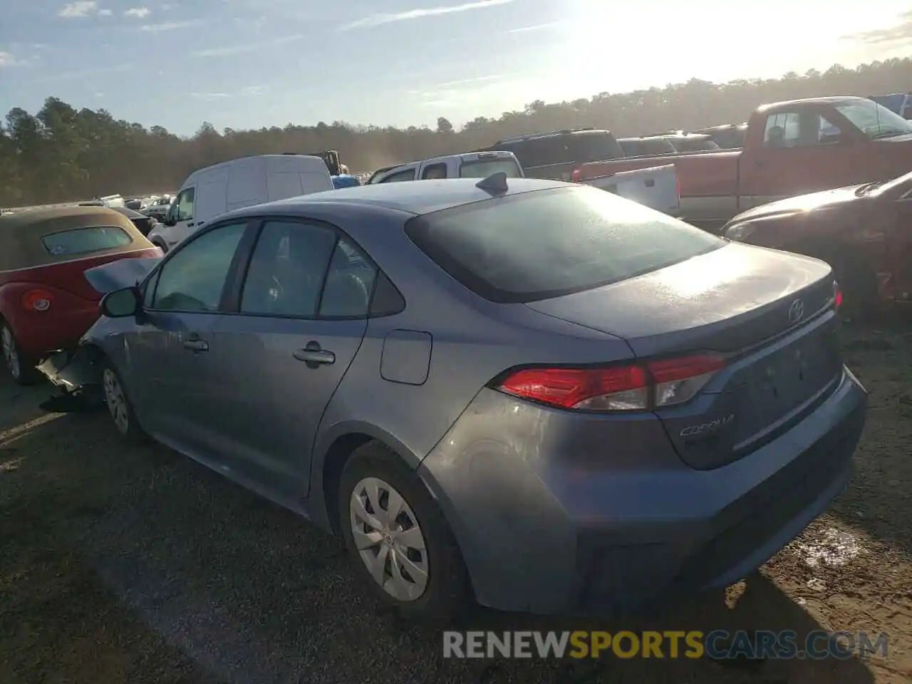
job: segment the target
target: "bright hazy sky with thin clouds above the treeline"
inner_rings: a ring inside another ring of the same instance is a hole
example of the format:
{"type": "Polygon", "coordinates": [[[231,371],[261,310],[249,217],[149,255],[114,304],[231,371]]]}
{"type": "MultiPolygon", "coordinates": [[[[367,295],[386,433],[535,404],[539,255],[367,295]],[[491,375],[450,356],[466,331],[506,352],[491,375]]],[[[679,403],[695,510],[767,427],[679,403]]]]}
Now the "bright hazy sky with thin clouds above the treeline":
{"type": "Polygon", "coordinates": [[[907,57],[912,0],[0,0],[0,113],[48,96],[191,135],[457,127],[536,99],[907,57]]]}

